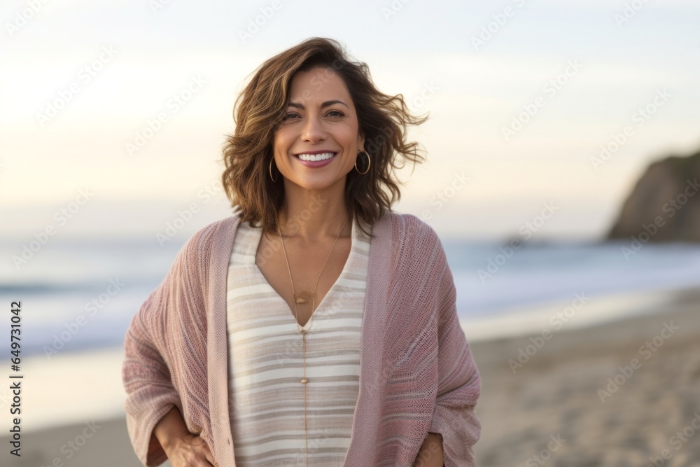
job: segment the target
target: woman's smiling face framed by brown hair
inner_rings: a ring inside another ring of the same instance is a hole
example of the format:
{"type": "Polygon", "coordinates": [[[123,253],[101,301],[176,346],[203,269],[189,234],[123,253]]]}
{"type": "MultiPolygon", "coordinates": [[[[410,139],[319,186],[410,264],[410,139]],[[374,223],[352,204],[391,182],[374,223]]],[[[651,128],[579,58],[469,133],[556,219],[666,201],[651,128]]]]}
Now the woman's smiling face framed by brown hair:
{"type": "Polygon", "coordinates": [[[317,67],[297,72],[286,116],[274,132],[274,161],[285,183],[307,190],[344,186],[364,141],[355,105],[335,71],[317,67]],[[319,151],[334,154],[330,159],[328,154],[304,155],[319,151]]]}

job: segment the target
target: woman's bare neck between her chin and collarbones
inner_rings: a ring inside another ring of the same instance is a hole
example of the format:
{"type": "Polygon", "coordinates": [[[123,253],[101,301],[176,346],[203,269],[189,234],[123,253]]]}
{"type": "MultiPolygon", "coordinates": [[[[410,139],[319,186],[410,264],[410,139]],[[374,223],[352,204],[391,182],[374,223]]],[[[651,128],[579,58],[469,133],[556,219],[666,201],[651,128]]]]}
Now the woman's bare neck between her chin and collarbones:
{"type": "Polygon", "coordinates": [[[341,237],[349,237],[352,219],[344,202],[344,184],[325,190],[307,190],[285,183],[284,201],[279,212],[279,228],[285,237],[315,242],[325,237],[335,239],[346,221],[341,237]]]}

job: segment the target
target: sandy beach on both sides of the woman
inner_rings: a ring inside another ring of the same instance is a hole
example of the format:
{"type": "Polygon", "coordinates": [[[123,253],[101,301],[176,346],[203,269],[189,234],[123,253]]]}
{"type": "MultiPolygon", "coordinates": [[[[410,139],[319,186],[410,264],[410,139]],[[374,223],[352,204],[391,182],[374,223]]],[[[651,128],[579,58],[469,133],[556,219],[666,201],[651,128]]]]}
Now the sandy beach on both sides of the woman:
{"type": "MultiPolygon", "coordinates": [[[[572,317],[561,328],[531,322],[519,337],[475,337],[483,378],[477,465],[700,466],[700,289],[663,296],[653,310],[594,326],[574,326],[572,317]]],[[[616,300],[607,306],[618,307],[616,300]]],[[[120,351],[56,357],[51,365],[61,373],[76,362],[71,374],[81,389],[36,362],[34,382],[54,391],[29,391],[27,411],[34,413],[23,426],[22,457],[10,456],[2,438],[1,465],[140,465],[119,412],[123,393],[112,387],[120,380],[120,351]],[[42,413],[48,421],[31,422],[42,413]]]]}

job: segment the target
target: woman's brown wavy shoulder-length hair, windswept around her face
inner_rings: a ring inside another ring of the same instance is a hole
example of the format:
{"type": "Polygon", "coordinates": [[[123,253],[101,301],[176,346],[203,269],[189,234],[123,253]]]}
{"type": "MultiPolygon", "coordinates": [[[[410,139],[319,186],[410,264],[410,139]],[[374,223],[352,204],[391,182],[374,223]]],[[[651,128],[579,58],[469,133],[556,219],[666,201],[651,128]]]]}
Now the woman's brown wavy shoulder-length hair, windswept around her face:
{"type": "MultiPolygon", "coordinates": [[[[345,183],[345,206],[363,225],[374,225],[385,210],[400,200],[395,169],[407,161],[424,162],[425,152],[415,141],[405,141],[407,125],[428,120],[412,116],[401,94],[379,92],[364,62],[351,60],[338,41],[312,37],[265,61],[234,104],[234,134],[223,144],[225,170],[221,177],[226,196],[241,222],[262,224],[265,232],[276,232],[277,214],[284,197],[282,177],[273,182],[269,162],[274,158],[274,132],[288,106],[291,81],[297,71],[325,67],[342,78],[355,104],[359,132],[365,137],[365,152],[371,159],[367,174],[351,170],[345,183]]],[[[248,75],[250,76],[250,75],[248,75]]],[[[364,160],[364,158],[362,158],[364,160]]],[[[364,172],[366,164],[358,167],[364,172]]]]}

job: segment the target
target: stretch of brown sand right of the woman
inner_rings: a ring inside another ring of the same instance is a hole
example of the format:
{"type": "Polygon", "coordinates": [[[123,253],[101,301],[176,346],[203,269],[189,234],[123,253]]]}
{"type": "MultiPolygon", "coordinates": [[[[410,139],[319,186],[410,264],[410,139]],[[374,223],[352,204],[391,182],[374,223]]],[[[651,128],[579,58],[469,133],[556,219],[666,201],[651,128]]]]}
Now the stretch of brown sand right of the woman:
{"type": "Polygon", "coordinates": [[[477,465],[700,466],[699,312],[691,290],[656,313],[548,340],[475,342],[477,465]]]}

